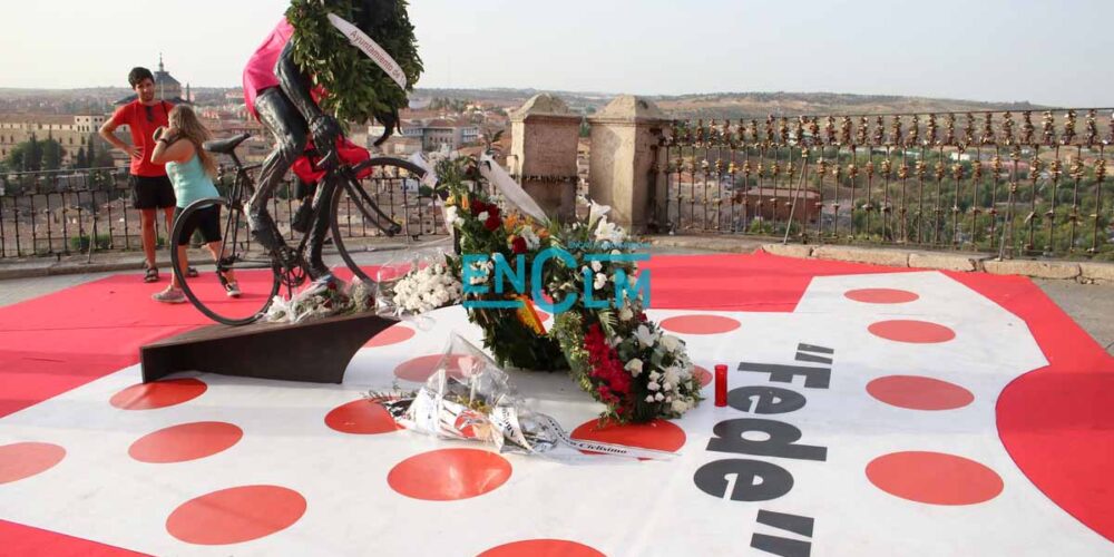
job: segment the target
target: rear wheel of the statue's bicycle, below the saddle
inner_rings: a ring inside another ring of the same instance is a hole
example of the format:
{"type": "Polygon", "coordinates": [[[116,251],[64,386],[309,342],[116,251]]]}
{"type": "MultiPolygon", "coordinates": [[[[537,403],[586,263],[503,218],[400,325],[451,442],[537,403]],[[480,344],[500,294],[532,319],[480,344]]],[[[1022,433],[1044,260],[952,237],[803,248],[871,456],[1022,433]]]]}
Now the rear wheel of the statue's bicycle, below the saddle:
{"type": "Polygon", "coordinates": [[[197,276],[184,276],[177,248],[170,250],[174,274],[186,297],[206,316],[226,325],[246,325],[258,320],[278,293],[278,275],[271,256],[262,247],[254,247],[247,232],[247,218],[242,205],[229,205],[214,197],[194,202],[174,221],[172,246],[179,238],[187,242],[194,229],[203,228],[205,218],[219,223],[221,240],[194,250],[189,266],[197,276]],[[213,215],[212,212],[217,214],[213,215]],[[214,252],[217,256],[214,256],[214,252]],[[231,276],[229,276],[231,275],[231,276]],[[235,278],[238,295],[228,289],[228,278],[235,278]]]}

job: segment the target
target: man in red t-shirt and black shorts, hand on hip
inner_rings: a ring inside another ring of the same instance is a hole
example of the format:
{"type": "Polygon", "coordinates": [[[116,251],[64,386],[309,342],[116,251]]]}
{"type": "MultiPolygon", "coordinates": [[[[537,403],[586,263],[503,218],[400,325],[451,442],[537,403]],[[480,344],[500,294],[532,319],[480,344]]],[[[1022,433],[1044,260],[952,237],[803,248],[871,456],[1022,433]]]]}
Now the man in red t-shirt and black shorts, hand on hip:
{"type": "MultiPolygon", "coordinates": [[[[100,128],[100,136],[116,148],[131,157],[128,183],[131,186],[131,202],[139,209],[139,223],[143,233],[143,251],[147,257],[144,282],[158,281],[158,267],[155,263],[155,222],[158,209],[166,216],[166,237],[170,237],[170,225],[174,222],[174,186],[166,176],[164,165],[150,162],[155,150],[155,130],[168,127],[167,121],[174,105],[165,100],[155,100],[155,77],[147,68],[133,68],[128,74],[128,84],[136,91],[136,99],[121,106],[113,117],[100,128]],[[131,131],[131,145],[119,140],[116,128],[127,126],[131,131]]],[[[169,243],[169,242],[168,242],[169,243]]]]}

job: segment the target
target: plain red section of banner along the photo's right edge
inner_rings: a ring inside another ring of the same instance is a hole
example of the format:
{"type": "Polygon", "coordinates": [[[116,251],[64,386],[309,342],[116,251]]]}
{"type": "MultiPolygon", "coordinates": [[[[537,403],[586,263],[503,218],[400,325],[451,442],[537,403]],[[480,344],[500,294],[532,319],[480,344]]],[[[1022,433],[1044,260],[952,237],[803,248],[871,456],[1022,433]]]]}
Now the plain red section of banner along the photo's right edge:
{"type": "Polygon", "coordinates": [[[948,274],[1025,320],[1049,362],[998,398],[1009,456],[1049,499],[1114,541],[1114,358],[1028,278],[948,274]]]}

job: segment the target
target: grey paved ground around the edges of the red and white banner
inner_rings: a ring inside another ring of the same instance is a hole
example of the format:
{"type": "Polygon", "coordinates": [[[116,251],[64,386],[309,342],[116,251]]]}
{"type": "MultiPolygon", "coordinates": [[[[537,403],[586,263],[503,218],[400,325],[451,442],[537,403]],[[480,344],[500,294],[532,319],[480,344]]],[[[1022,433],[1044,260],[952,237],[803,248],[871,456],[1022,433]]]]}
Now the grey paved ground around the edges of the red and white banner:
{"type": "MultiPolygon", "coordinates": [[[[443,245],[443,243],[441,244],[443,245]]],[[[361,264],[377,264],[399,257],[402,254],[403,245],[383,245],[373,251],[362,252],[355,256],[361,264]]],[[[655,246],[652,250],[656,255],[687,255],[701,253],[720,253],[720,251],[697,250],[691,247],[666,247],[655,246]]],[[[99,265],[89,268],[105,268],[106,264],[116,266],[131,266],[137,271],[136,280],[139,280],[140,258],[133,254],[123,255],[98,255],[99,265]]],[[[50,264],[53,260],[43,261],[40,265],[50,264]]],[[[342,264],[339,257],[331,257],[330,264],[342,264]]],[[[9,264],[0,264],[3,268],[9,264]]],[[[33,261],[20,263],[21,266],[35,265],[33,261]]],[[[167,263],[163,268],[168,271],[167,263]]],[[[62,289],[95,281],[113,274],[129,272],[115,270],[109,272],[89,272],[80,274],[62,274],[50,276],[35,276],[27,278],[0,280],[0,306],[13,304],[43,294],[49,294],[62,289]]],[[[1042,280],[1034,282],[1056,302],[1068,315],[1083,326],[1092,338],[1106,348],[1106,351],[1114,354],[1114,285],[1110,284],[1079,284],[1068,280],[1042,280]]],[[[165,285],[166,283],[162,283],[165,285]]],[[[157,289],[153,289],[153,292],[157,289]]]]}

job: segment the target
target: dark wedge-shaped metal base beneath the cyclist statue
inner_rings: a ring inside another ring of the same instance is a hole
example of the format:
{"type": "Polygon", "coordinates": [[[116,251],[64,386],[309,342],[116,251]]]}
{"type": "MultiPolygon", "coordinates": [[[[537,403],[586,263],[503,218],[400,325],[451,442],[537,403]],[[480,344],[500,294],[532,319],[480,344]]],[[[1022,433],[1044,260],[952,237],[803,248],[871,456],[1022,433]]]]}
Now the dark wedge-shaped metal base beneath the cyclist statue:
{"type": "Polygon", "coordinates": [[[341,383],[352,356],[398,323],[373,313],[307,323],[213,325],[139,349],[143,381],[201,371],[255,379],[341,383]]]}

